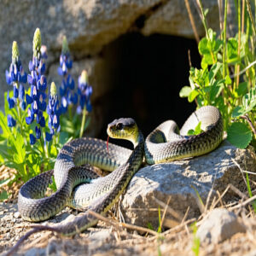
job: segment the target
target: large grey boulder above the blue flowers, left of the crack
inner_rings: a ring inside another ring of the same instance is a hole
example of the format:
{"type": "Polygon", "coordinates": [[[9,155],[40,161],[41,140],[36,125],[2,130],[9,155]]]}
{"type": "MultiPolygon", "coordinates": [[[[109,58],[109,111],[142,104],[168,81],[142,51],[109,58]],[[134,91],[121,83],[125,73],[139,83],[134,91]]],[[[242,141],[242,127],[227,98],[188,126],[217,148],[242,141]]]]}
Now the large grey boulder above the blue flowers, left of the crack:
{"type": "Polygon", "coordinates": [[[0,1],[2,89],[8,88],[4,71],[11,61],[12,42],[18,42],[23,66],[27,67],[32,59],[32,38],[37,27],[41,30],[42,44],[49,49],[49,62],[58,61],[63,35],[67,35],[73,54],[81,58],[81,55],[99,53],[157,3],[160,0],[0,1]]]}

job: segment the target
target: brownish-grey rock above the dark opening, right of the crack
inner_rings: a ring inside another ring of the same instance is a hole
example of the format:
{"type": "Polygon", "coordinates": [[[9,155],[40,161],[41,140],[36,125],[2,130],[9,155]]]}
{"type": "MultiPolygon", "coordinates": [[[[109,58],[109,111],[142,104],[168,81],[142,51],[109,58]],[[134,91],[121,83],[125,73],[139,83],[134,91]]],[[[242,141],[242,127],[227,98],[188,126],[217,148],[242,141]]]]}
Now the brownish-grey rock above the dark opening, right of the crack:
{"type": "MultiPolygon", "coordinates": [[[[191,14],[195,20],[196,31],[200,37],[205,35],[205,29],[199,16],[199,9],[195,8],[195,1],[189,0],[191,14]]],[[[214,31],[219,31],[218,19],[218,2],[214,0],[203,1],[203,8],[209,9],[207,21],[214,31]]],[[[229,3],[228,19],[229,25],[234,22],[234,14],[236,9],[233,3],[229,3]]],[[[234,35],[236,28],[228,27],[228,33],[234,35]]],[[[172,0],[166,1],[160,8],[148,17],[143,26],[142,32],[148,36],[153,33],[177,35],[186,38],[194,38],[194,32],[190,24],[188,10],[184,1],[172,0]]]]}

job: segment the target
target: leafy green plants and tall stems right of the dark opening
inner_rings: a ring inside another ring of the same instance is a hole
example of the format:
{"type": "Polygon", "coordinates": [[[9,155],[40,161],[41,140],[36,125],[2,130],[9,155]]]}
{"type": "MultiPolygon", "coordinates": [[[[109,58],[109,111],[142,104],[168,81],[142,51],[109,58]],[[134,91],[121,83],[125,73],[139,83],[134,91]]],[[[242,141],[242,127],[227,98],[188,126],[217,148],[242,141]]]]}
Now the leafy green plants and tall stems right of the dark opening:
{"type": "MultiPolygon", "coordinates": [[[[198,44],[202,57],[201,68],[190,68],[189,86],[184,86],[179,96],[187,97],[189,102],[195,101],[198,108],[207,105],[217,107],[224,118],[227,139],[238,148],[246,148],[253,142],[256,119],[256,42],[252,17],[246,12],[246,32],[241,32],[239,26],[236,37],[225,38],[225,25],[224,31],[217,38],[216,32],[207,27],[206,14],[201,1],[199,3],[206,29],[206,37],[198,44]]],[[[195,131],[189,132],[195,134],[195,131]]]]}

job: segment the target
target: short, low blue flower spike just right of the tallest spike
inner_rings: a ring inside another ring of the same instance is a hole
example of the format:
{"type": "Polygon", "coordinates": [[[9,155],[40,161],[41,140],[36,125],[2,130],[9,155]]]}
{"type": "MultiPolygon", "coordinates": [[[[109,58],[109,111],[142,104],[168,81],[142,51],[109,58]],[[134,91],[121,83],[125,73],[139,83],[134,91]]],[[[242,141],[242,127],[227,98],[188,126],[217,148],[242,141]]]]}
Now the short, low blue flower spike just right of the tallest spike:
{"type": "Polygon", "coordinates": [[[54,82],[50,84],[50,95],[49,103],[47,106],[47,113],[49,114],[48,126],[50,132],[45,133],[45,138],[47,141],[50,141],[52,137],[61,130],[61,108],[59,108],[59,100],[56,94],[56,86],[54,82]]]}

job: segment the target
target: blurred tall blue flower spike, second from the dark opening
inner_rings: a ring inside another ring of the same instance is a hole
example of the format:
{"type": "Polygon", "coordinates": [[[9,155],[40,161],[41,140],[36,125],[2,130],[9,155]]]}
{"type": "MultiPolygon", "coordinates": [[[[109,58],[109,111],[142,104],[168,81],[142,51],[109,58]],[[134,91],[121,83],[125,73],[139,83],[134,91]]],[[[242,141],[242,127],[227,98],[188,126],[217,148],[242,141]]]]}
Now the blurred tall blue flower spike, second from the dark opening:
{"type": "Polygon", "coordinates": [[[78,95],[74,92],[75,83],[69,70],[73,66],[73,61],[70,58],[70,52],[67,45],[67,38],[64,37],[62,41],[62,50],[60,56],[60,67],[58,67],[58,73],[62,76],[62,82],[60,86],[61,95],[61,111],[67,112],[68,105],[76,105],[78,102],[78,95]]]}

